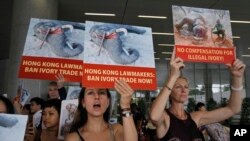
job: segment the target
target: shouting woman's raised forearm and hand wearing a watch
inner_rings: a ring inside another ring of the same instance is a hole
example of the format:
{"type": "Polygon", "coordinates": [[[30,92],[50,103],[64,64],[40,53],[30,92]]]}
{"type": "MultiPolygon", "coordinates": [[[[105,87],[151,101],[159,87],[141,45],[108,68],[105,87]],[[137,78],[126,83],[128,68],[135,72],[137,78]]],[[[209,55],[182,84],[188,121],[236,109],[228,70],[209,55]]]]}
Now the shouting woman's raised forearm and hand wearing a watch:
{"type": "MultiPolygon", "coordinates": [[[[130,101],[132,95],[134,94],[134,90],[125,80],[116,80],[114,87],[115,90],[121,95],[120,106],[122,109],[123,122],[123,131],[119,131],[120,136],[123,136],[121,141],[137,141],[138,135],[130,110],[130,101]]],[[[118,140],[120,140],[120,138],[118,140]]]]}

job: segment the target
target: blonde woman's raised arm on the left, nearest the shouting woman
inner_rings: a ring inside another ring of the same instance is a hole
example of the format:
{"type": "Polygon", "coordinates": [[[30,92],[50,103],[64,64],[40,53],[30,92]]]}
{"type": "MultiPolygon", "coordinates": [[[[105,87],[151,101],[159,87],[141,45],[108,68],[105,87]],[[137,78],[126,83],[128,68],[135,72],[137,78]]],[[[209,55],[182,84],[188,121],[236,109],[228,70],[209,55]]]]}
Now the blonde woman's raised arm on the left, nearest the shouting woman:
{"type": "Polygon", "coordinates": [[[171,90],[175,84],[175,81],[181,74],[180,70],[184,66],[183,60],[179,57],[175,57],[174,49],[170,60],[170,74],[160,94],[154,100],[150,111],[150,118],[156,126],[163,122],[164,110],[167,101],[169,100],[169,95],[171,94],[171,90]]]}

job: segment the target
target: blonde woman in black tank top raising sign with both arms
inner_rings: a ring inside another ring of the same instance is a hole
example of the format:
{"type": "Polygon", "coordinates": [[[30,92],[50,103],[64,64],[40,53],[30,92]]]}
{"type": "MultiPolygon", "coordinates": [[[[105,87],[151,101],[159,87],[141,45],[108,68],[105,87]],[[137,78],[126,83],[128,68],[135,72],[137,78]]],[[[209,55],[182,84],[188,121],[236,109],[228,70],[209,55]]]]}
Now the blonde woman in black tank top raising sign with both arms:
{"type": "Polygon", "coordinates": [[[229,104],[212,111],[196,111],[187,113],[184,103],[188,100],[189,84],[181,76],[184,68],[181,58],[175,57],[175,49],[170,60],[170,75],[160,94],[154,100],[150,117],[157,129],[157,135],[164,141],[203,141],[198,127],[225,120],[240,111],[242,103],[242,79],[245,64],[236,59],[227,67],[231,72],[232,86],[229,104]],[[169,109],[165,109],[170,100],[169,109]]]}

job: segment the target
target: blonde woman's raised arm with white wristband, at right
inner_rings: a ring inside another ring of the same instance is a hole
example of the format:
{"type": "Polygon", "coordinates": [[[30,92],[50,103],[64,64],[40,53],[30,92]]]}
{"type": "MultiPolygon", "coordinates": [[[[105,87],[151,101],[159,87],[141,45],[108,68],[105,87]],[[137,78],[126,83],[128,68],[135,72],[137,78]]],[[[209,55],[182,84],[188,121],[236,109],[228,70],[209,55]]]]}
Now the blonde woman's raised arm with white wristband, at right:
{"type": "Polygon", "coordinates": [[[228,104],[225,107],[215,109],[200,114],[199,125],[219,122],[237,114],[241,110],[242,92],[243,92],[243,76],[245,64],[240,60],[235,60],[233,64],[227,64],[231,72],[231,95],[228,104]]]}

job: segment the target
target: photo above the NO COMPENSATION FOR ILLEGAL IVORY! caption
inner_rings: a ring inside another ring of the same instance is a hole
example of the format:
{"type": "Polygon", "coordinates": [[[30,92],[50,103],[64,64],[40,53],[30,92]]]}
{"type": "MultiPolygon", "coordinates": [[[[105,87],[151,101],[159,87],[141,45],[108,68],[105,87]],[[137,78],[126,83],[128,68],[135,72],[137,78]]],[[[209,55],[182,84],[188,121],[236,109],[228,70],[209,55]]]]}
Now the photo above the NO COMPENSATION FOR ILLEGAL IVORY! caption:
{"type": "Polygon", "coordinates": [[[234,47],[228,10],[172,6],[176,45],[234,47]]]}

